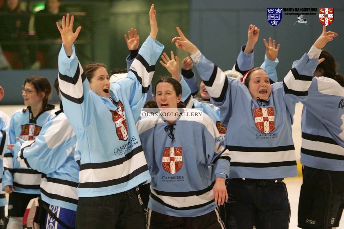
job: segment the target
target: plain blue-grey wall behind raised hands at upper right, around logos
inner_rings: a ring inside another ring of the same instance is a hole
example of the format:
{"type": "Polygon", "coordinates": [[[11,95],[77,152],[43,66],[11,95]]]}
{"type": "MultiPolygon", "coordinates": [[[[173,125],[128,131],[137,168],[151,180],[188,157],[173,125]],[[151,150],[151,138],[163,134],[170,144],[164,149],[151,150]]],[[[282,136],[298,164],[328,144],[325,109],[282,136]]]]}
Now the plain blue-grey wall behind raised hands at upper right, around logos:
{"type": "MultiPolygon", "coordinates": [[[[319,22],[319,12],[314,12],[316,15],[304,15],[310,25],[303,23],[291,25],[297,21],[297,16],[284,15],[282,11],[282,20],[274,27],[267,21],[267,8],[334,8],[334,20],[327,26],[327,30],[337,32],[338,37],[335,37],[334,41],[328,43],[324,49],[330,51],[339,64],[344,65],[344,1],[330,3],[321,0],[191,0],[189,39],[205,57],[225,71],[232,69],[240,46],[247,42],[248,26],[254,24],[260,29],[255,46],[255,67],[259,67],[264,61],[266,49],[263,39],[272,37],[276,39],[277,44],[281,44],[277,73],[279,80],[282,80],[293,60],[307,53],[319,37],[322,24],[319,22]]],[[[338,73],[344,75],[343,67],[338,69],[338,73]]]]}

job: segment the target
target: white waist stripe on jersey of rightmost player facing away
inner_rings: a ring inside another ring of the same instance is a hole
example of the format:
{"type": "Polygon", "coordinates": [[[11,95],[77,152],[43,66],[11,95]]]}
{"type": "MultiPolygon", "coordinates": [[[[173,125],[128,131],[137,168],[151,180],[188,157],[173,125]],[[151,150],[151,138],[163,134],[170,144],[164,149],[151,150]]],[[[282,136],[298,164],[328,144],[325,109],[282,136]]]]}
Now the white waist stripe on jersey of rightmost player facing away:
{"type": "Polygon", "coordinates": [[[325,153],[331,153],[336,155],[344,156],[344,148],[338,145],[325,143],[321,141],[311,141],[302,138],[302,148],[314,150],[314,151],[321,151],[325,153]]]}

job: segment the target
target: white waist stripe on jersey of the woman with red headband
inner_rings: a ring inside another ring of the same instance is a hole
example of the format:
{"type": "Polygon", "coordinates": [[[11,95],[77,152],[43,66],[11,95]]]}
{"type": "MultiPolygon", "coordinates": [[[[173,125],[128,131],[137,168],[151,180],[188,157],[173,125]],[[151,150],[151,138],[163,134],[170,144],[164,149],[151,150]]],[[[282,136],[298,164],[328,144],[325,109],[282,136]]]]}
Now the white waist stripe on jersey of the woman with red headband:
{"type": "Polygon", "coordinates": [[[230,151],[230,162],[244,163],[270,163],[282,161],[295,161],[295,150],[276,152],[241,152],[230,151]]]}

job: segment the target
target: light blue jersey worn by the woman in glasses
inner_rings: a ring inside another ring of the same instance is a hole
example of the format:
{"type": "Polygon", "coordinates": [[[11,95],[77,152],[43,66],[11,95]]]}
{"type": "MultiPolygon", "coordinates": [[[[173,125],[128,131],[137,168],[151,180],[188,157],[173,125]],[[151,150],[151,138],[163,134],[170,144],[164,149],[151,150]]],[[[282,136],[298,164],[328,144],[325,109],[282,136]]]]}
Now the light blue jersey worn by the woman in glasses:
{"type": "MultiPolygon", "coordinates": [[[[23,140],[35,140],[40,134],[42,126],[56,116],[55,112],[54,106],[50,104],[35,118],[32,118],[30,107],[24,113],[22,109],[14,112],[9,128],[9,144],[15,144],[16,137],[23,140]]],[[[14,192],[40,194],[41,173],[22,168],[19,161],[15,160],[17,156],[18,151],[13,152],[12,150],[6,150],[4,154],[2,190],[4,190],[4,186],[13,185],[14,192]]]]}

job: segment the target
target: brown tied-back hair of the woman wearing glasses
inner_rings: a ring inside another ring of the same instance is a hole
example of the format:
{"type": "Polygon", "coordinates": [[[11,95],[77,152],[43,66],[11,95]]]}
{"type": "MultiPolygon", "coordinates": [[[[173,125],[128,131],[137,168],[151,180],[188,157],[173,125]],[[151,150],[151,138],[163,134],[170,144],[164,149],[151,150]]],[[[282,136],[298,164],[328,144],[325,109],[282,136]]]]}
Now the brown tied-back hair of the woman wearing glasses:
{"type": "MultiPolygon", "coordinates": [[[[25,79],[24,86],[26,83],[32,84],[33,88],[36,90],[37,95],[40,95],[42,92],[44,92],[45,96],[42,101],[42,109],[44,110],[45,108],[47,108],[49,96],[52,92],[51,85],[47,78],[42,76],[32,76],[25,79]]],[[[23,109],[23,112],[25,112],[26,109],[23,109]]]]}

